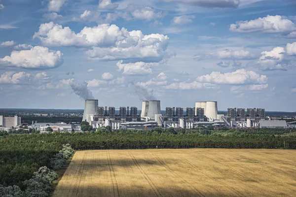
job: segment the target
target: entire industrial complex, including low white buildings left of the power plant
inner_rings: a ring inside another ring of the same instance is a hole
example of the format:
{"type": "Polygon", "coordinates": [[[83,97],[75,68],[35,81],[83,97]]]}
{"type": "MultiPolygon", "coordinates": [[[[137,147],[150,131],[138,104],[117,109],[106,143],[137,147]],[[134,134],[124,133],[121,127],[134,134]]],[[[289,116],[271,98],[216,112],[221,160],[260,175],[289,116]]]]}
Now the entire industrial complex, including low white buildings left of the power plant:
{"type": "MultiPolygon", "coordinates": [[[[195,129],[213,126],[214,128],[228,127],[236,129],[255,128],[289,128],[293,123],[285,120],[271,120],[265,116],[262,108],[228,108],[226,113],[218,114],[217,101],[197,101],[194,107],[166,107],[161,110],[160,100],[144,100],[141,110],[137,107],[99,106],[97,99],[84,101],[82,121],[88,122],[92,128],[110,127],[111,130],[149,130],[156,127],[195,129]]],[[[0,131],[10,131],[21,126],[21,117],[0,116],[0,131]]],[[[27,128],[40,132],[52,131],[79,132],[79,124],[66,123],[37,123],[33,121],[27,128]]]]}

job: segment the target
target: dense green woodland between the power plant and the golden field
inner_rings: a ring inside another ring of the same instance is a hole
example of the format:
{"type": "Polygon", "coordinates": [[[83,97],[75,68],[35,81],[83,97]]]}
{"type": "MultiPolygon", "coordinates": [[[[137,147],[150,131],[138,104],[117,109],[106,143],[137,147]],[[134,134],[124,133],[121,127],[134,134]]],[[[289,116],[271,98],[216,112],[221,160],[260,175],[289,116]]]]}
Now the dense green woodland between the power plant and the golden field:
{"type": "Polygon", "coordinates": [[[24,189],[41,166],[48,166],[63,144],[75,150],[147,148],[267,148],[296,149],[295,129],[262,130],[110,131],[108,128],[81,133],[10,134],[0,132],[0,185],[24,189]]]}

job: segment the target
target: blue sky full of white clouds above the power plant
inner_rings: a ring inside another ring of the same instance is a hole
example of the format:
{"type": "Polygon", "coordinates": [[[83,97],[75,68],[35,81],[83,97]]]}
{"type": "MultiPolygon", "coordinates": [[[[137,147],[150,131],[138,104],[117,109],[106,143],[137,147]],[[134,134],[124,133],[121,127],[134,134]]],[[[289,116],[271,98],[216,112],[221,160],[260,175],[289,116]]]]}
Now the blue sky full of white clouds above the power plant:
{"type": "Polygon", "coordinates": [[[0,108],[296,111],[295,0],[0,0],[0,108]]]}

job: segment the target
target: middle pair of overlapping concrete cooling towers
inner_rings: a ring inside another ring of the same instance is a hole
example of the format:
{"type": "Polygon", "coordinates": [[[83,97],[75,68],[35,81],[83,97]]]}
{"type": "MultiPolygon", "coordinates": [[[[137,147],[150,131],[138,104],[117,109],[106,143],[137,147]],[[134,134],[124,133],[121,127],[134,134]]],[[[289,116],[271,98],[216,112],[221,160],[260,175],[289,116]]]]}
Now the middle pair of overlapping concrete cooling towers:
{"type": "Polygon", "coordinates": [[[148,117],[149,119],[154,119],[155,114],[161,114],[160,100],[143,101],[141,117],[148,117]]]}

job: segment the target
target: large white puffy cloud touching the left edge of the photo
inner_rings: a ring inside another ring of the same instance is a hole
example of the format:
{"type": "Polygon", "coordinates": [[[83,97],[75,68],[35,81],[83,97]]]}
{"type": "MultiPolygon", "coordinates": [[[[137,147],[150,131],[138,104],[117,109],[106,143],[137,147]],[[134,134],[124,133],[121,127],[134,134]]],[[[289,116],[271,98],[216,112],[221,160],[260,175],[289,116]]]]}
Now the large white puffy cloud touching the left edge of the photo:
{"type": "Polygon", "coordinates": [[[0,58],[0,63],[25,68],[53,68],[63,63],[60,51],[35,46],[30,50],[12,51],[10,56],[0,58]]]}

